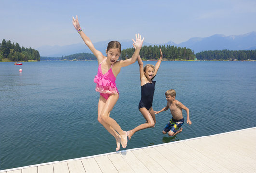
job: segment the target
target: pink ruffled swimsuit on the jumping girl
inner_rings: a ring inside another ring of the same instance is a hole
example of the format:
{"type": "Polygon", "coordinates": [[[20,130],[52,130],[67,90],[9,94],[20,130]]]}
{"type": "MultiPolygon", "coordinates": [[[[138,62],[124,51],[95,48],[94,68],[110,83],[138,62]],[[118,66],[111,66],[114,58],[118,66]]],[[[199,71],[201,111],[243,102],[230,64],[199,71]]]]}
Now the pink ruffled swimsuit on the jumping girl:
{"type": "MultiPolygon", "coordinates": [[[[107,58],[105,58],[106,60],[107,58]]],[[[103,60],[103,62],[105,61],[103,60]]],[[[118,93],[117,87],[116,87],[116,77],[114,76],[112,72],[112,66],[108,70],[107,73],[102,74],[101,70],[101,64],[99,64],[98,68],[98,75],[95,76],[94,82],[97,84],[96,91],[100,93],[101,96],[103,96],[106,100],[111,94],[118,93]]],[[[118,93],[119,94],[119,93],[118,93]]]]}

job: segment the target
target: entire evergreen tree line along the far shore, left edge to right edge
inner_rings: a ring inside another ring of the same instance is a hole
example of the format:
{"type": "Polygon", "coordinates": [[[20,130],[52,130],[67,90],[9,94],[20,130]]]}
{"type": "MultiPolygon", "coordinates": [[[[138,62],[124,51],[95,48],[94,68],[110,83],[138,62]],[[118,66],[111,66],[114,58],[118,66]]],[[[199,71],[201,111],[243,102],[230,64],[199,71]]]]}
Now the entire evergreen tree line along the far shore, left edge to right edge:
{"type": "MultiPolygon", "coordinates": [[[[158,60],[160,50],[163,52],[163,61],[194,61],[194,60],[215,60],[215,61],[256,61],[256,50],[206,50],[194,53],[186,47],[170,45],[143,46],[140,50],[142,60],[158,60]]],[[[127,48],[121,51],[120,59],[132,57],[135,49],[127,48]]],[[[76,53],[62,57],[40,57],[37,50],[20,47],[18,43],[11,43],[10,40],[2,40],[0,44],[0,62],[18,61],[45,61],[45,60],[96,60],[92,53],[76,53]]]]}

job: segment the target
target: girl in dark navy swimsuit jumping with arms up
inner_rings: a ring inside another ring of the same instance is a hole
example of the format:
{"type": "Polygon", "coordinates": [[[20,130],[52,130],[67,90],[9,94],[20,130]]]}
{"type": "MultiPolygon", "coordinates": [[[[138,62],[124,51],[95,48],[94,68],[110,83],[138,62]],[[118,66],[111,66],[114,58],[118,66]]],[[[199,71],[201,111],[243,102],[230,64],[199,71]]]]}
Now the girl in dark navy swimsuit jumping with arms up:
{"type": "MultiPolygon", "coordinates": [[[[135,45],[133,44],[134,48],[136,49],[135,45]]],[[[160,58],[158,59],[156,66],[154,65],[145,65],[143,68],[143,62],[138,55],[138,63],[139,63],[139,71],[140,71],[140,85],[141,85],[141,99],[139,102],[139,111],[143,115],[146,120],[146,123],[141,124],[135,127],[132,130],[128,131],[128,138],[129,140],[133,136],[133,134],[139,130],[154,127],[156,123],[156,117],[154,110],[152,108],[154,91],[155,91],[155,83],[153,78],[156,76],[157,71],[160,67],[162,61],[162,51],[160,49],[160,58]]]]}

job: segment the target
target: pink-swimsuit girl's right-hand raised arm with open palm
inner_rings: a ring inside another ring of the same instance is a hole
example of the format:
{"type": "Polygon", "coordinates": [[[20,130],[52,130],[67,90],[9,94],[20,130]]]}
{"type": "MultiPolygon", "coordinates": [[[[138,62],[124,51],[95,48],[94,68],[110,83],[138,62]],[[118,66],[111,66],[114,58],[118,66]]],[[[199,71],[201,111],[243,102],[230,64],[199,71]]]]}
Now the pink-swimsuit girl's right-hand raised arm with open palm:
{"type": "Polygon", "coordinates": [[[136,47],[136,49],[134,51],[134,54],[131,58],[129,58],[127,60],[120,60],[121,67],[125,67],[125,66],[128,66],[128,65],[131,65],[131,64],[135,63],[137,58],[138,58],[140,49],[141,49],[143,41],[144,41],[144,38],[141,39],[141,35],[136,34],[136,41],[134,41],[134,39],[132,39],[132,40],[133,40],[133,43],[136,47]]]}

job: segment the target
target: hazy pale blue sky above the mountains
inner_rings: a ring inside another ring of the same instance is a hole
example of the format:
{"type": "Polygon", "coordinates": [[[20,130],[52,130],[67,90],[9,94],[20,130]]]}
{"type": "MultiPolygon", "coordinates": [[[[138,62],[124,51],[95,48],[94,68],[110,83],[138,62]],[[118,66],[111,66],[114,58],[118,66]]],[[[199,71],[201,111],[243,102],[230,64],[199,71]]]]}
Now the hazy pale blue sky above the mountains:
{"type": "Polygon", "coordinates": [[[140,33],[149,43],[181,43],[256,31],[256,0],[0,0],[0,42],[34,49],[80,43],[76,15],[92,42],[140,33]]]}

